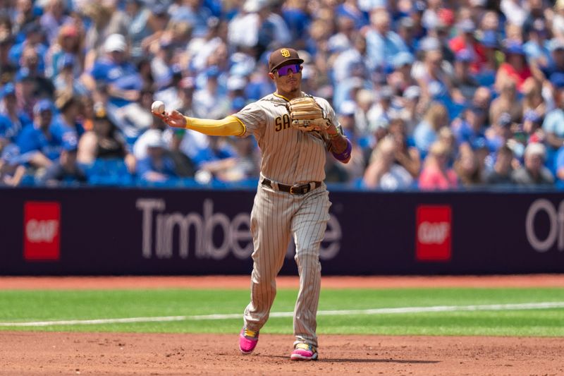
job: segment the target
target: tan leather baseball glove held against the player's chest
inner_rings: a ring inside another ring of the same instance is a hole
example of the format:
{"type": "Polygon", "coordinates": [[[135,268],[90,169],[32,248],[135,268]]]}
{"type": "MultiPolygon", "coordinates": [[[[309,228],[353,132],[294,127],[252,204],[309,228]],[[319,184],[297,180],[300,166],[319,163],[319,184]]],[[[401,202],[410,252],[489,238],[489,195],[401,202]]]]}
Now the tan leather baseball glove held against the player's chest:
{"type": "Polygon", "coordinates": [[[286,104],[292,126],[303,132],[325,131],[331,120],[312,97],[294,98],[286,104]]]}

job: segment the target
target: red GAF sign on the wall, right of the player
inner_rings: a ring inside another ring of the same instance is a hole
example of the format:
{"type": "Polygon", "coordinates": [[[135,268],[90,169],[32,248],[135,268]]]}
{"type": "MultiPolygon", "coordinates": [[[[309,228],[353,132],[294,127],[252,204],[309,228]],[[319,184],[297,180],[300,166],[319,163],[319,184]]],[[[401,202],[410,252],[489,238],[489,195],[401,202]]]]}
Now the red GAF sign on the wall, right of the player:
{"type": "Polygon", "coordinates": [[[451,256],[450,206],[417,207],[415,253],[420,261],[448,261],[451,256]]]}

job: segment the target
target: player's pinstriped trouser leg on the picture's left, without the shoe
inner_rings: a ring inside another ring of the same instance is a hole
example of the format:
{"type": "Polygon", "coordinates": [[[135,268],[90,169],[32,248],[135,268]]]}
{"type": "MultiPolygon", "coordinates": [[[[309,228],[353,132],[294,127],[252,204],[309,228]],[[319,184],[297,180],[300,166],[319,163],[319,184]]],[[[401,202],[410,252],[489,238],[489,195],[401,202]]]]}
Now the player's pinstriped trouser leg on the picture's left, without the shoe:
{"type": "Polygon", "coordinates": [[[251,212],[251,301],[245,308],[245,327],[258,331],[268,320],[276,296],[276,275],[290,241],[293,198],[286,193],[259,187],[251,212]]]}

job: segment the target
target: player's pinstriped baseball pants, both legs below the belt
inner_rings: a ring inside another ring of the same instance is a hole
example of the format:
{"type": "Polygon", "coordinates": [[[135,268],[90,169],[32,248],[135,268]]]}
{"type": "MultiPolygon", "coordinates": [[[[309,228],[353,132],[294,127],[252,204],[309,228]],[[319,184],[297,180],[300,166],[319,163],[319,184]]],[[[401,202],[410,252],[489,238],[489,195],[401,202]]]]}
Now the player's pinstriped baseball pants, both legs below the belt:
{"type": "Polygon", "coordinates": [[[296,342],[317,347],[317,305],[321,289],[319,247],[329,221],[329,192],[325,184],[305,195],[290,195],[259,183],[251,212],[251,301],[245,308],[245,327],[257,331],[269,318],[276,296],[276,275],[284,262],[288,241],[295,241],[300,291],[294,309],[296,342]]]}

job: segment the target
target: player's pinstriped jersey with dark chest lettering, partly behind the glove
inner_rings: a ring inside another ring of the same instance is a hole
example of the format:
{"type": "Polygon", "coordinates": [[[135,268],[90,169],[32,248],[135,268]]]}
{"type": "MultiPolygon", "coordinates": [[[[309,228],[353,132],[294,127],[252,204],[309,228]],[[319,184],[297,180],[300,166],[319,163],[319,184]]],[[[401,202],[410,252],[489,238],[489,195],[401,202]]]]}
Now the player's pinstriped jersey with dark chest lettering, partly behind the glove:
{"type": "MultiPolygon", "coordinates": [[[[335,111],[323,98],[314,97],[329,119],[341,129],[335,111]]],[[[262,174],[284,184],[324,181],[327,140],[290,126],[288,101],[270,94],[233,114],[247,128],[242,137],[255,135],[262,152],[262,174]]]]}

